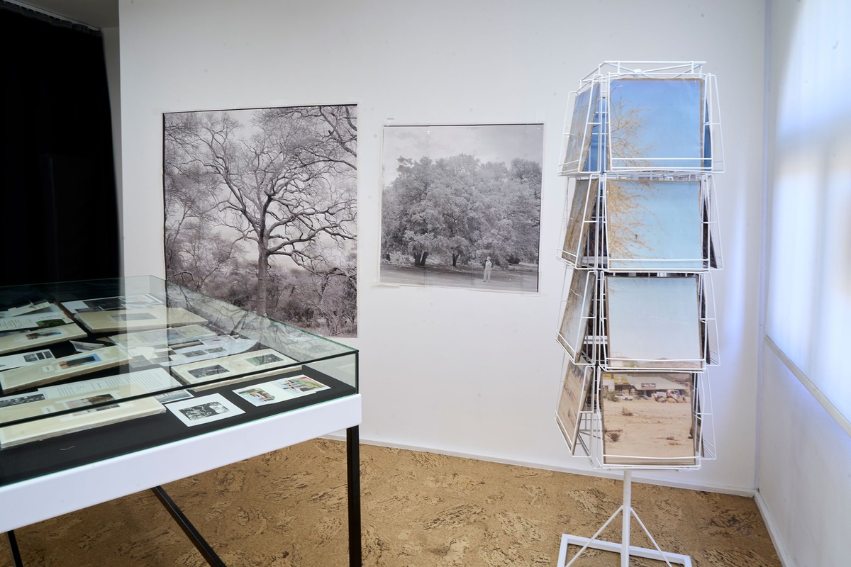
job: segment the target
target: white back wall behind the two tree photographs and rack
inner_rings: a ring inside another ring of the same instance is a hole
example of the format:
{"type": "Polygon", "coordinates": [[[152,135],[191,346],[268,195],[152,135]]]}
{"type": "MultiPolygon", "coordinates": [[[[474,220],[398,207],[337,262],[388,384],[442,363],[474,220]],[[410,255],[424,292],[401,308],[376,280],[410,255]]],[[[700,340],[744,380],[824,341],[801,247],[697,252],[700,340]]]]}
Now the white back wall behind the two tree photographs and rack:
{"type": "Polygon", "coordinates": [[[603,60],[705,60],[718,77],[719,457],[666,483],[754,485],[765,10],[761,0],[121,0],[125,275],[164,274],[162,113],[358,105],[362,439],[588,471],[553,419],[569,91],[603,60]],[[540,292],[382,286],[380,151],[394,124],[543,122],[540,292]]]}

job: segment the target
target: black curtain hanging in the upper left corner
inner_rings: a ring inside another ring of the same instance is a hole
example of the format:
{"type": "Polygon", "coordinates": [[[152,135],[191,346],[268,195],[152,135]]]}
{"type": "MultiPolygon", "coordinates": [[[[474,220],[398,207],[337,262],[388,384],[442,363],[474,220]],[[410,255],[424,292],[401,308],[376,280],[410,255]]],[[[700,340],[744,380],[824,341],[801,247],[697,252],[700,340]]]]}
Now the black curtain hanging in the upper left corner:
{"type": "Polygon", "coordinates": [[[0,285],[119,275],[100,31],[0,3],[0,285]]]}

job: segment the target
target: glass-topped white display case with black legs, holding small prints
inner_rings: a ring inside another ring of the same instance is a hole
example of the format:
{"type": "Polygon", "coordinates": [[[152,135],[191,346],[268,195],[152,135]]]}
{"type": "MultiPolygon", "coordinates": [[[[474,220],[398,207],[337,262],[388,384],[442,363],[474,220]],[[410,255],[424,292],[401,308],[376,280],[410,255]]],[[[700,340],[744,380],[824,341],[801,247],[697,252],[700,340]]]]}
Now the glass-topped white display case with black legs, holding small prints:
{"type": "Polygon", "coordinates": [[[345,428],[359,564],[357,356],[151,276],[0,288],[0,532],[345,428]]]}

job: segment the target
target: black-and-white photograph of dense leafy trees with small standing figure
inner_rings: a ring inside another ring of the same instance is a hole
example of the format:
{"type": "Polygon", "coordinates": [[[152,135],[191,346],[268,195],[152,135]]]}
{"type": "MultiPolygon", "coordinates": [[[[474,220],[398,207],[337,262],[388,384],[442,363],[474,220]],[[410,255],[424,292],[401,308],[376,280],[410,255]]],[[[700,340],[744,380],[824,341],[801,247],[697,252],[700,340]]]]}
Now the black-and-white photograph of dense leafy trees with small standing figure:
{"type": "Polygon", "coordinates": [[[386,126],[380,280],[537,292],[541,124],[386,126]]]}

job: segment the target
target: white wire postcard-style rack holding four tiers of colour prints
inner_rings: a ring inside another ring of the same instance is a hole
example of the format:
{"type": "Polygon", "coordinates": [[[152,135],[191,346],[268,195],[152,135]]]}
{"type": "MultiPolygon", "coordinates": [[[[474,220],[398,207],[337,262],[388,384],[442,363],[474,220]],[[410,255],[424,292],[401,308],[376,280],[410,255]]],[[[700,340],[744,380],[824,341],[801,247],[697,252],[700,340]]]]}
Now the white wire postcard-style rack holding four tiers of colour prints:
{"type": "Polygon", "coordinates": [[[605,61],[571,94],[559,174],[568,213],[556,421],[574,456],[624,473],[623,504],[591,538],[565,534],[558,567],[591,547],[688,567],[631,505],[633,470],[714,459],[707,368],[718,364],[711,270],[722,268],[713,174],[723,171],[715,77],[703,63],[605,61]],[[621,515],[620,542],[599,536],[621,515]],[[631,520],[654,548],[630,545],[631,520]],[[580,549],[568,558],[568,547],[580,549]],[[569,559],[569,560],[568,560],[569,559]]]}

